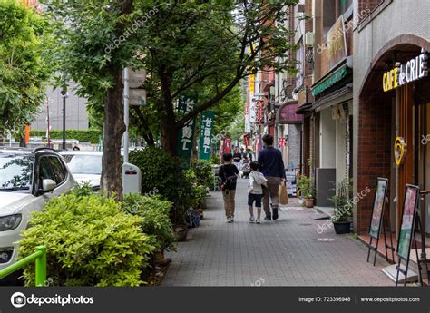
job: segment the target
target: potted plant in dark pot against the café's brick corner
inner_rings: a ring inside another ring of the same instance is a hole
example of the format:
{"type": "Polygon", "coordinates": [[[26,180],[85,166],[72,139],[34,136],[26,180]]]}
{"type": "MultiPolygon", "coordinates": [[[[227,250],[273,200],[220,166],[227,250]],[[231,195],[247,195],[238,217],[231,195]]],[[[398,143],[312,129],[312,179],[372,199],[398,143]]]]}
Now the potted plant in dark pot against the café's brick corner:
{"type": "Polygon", "coordinates": [[[347,234],[351,230],[352,223],[352,203],[349,201],[350,184],[347,180],[337,184],[336,194],[331,197],[335,209],[332,217],[335,232],[337,234],[347,234]]]}

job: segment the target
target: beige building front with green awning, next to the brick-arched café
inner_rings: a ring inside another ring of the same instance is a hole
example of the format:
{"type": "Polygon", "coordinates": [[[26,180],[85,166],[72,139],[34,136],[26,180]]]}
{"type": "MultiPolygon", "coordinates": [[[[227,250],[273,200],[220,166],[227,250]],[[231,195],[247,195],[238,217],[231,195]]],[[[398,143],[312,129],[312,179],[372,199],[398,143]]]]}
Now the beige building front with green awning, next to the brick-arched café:
{"type": "Polygon", "coordinates": [[[312,24],[305,35],[305,62],[313,73],[305,75],[298,112],[304,114],[303,171],[315,178],[321,207],[332,206],[337,183],[352,175],[352,3],[309,0],[305,5],[312,24]]]}

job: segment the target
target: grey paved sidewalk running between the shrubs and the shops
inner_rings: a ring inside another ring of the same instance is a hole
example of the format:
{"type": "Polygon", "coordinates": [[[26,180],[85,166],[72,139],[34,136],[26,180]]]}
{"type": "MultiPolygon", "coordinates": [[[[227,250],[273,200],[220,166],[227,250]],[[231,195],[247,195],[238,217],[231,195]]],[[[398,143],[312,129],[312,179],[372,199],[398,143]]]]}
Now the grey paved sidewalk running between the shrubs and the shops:
{"type": "MultiPolygon", "coordinates": [[[[220,192],[211,192],[200,228],[178,243],[163,286],[393,286],[381,268],[366,263],[367,249],[350,235],[336,235],[316,210],[290,199],[279,220],[250,224],[247,180],[238,181],[235,222],[227,224],[220,192]]],[[[264,213],[263,213],[264,216],[264,213]]]]}

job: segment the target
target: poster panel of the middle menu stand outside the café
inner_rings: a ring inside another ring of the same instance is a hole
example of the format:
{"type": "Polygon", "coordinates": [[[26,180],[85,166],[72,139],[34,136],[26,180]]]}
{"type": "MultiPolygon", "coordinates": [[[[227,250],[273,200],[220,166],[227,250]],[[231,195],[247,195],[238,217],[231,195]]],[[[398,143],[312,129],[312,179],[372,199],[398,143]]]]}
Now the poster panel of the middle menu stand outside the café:
{"type": "Polygon", "coordinates": [[[415,210],[418,202],[419,188],[406,185],[405,202],[403,205],[402,224],[398,235],[397,254],[403,259],[409,258],[412,236],[414,234],[415,210]]]}

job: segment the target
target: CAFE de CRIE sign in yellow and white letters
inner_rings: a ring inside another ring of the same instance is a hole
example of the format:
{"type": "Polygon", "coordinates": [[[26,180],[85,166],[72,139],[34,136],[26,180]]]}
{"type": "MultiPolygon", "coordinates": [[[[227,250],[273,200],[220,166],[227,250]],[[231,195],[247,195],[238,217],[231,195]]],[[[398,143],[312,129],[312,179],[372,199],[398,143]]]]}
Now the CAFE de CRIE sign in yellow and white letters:
{"type": "Polygon", "coordinates": [[[396,62],[394,69],[384,73],[382,78],[384,92],[389,92],[406,83],[412,83],[426,77],[428,75],[427,59],[427,53],[423,49],[420,55],[409,60],[406,64],[396,62]]]}

